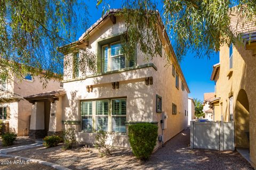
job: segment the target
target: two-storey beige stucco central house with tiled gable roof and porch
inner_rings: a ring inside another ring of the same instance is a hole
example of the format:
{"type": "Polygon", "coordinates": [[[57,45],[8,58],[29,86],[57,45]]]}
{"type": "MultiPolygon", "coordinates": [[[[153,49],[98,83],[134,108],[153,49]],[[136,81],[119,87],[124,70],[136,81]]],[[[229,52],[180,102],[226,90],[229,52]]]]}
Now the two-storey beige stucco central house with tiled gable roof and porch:
{"type": "MultiPolygon", "coordinates": [[[[44,129],[43,124],[38,125],[37,116],[42,115],[40,108],[43,107],[39,99],[45,98],[52,99],[49,134],[75,128],[79,142],[94,143],[95,131],[102,129],[116,133],[115,146],[130,147],[127,125],[139,122],[156,124],[164,142],[187,128],[189,88],[172,47],[163,45],[163,57],[154,56],[149,61],[137,48],[134,61],[127,60],[120,44],[125,23],[115,13],[116,10],[110,10],[68,46],[75,49],[65,53],[65,61],[71,61],[71,65],[64,68],[65,91],[26,97],[35,103],[32,117],[38,133],[44,129]],[[85,73],[72,63],[76,57],[82,60],[79,49],[97,56],[97,73],[85,73]],[[170,67],[165,66],[165,55],[169,56],[170,67]],[[161,124],[162,117],[164,124],[161,124]]],[[[167,34],[161,35],[164,36],[162,43],[169,44],[167,34]]],[[[161,142],[157,142],[156,147],[159,146],[161,142]]]]}

